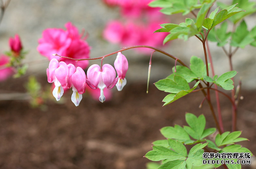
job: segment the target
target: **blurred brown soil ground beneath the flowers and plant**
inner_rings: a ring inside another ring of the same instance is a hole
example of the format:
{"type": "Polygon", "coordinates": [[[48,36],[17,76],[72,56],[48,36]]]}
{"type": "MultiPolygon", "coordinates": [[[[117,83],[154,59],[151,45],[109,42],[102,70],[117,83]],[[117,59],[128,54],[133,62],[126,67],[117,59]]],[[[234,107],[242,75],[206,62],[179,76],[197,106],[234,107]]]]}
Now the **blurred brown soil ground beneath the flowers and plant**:
{"type": "MultiPolygon", "coordinates": [[[[0,83],[0,93],[25,92],[22,83],[0,83]]],[[[207,127],[214,127],[207,103],[198,108],[201,92],[162,107],[166,93],[153,85],[149,94],[145,90],[146,84],[130,84],[109,102],[84,97],[79,107],[69,93],[66,104],[49,101],[47,111],[31,108],[27,101],[0,101],[0,169],[145,169],[149,160],[143,156],[152,150],[151,143],[164,139],[159,129],[186,125],[186,112],[205,114],[207,127]]],[[[250,139],[241,144],[256,152],[256,91],[243,91],[243,96],[237,129],[250,139]]],[[[228,131],[231,104],[223,96],[221,100],[228,131]]]]}

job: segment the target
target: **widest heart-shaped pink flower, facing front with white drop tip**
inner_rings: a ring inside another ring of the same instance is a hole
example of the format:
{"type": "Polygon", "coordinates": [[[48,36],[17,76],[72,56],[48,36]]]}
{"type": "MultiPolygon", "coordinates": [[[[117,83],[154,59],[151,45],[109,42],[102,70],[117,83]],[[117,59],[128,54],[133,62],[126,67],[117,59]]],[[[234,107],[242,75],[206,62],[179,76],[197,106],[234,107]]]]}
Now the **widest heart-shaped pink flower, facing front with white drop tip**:
{"type": "Polygon", "coordinates": [[[117,82],[116,71],[110,64],[104,64],[102,69],[99,65],[92,65],[87,71],[87,84],[92,89],[100,89],[99,101],[102,103],[106,100],[103,89],[112,89],[117,82]]]}

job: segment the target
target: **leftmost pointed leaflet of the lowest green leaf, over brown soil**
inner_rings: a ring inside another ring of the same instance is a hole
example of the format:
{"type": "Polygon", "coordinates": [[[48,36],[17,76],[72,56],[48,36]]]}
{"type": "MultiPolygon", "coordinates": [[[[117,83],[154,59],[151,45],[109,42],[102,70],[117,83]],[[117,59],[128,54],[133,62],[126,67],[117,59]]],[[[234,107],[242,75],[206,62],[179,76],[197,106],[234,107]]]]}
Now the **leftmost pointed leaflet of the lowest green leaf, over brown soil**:
{"type": "Polygon", "coordinates": [[[153,150],[146,153],[145,157],[151,161],[160,161],[160,160],[178,160],[178,159],[186,159],[186,157],[181,156],[179,153],[167,149],[163,146],[153,146],[153,150]]]}

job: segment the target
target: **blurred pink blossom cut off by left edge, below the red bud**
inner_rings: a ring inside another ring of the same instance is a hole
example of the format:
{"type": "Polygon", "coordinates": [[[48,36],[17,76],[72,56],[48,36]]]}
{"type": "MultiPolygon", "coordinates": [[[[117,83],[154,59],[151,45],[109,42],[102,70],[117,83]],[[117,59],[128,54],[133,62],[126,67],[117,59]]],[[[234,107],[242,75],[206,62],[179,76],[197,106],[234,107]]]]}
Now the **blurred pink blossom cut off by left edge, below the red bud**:
{"type": "Polygon", "coordinates": [[[14,69],[12,67],[5,67],[8,64],[10,58],[8,56],[0,56],[0,81],[6,80],[9,76],[14,74],[14,69]]]}

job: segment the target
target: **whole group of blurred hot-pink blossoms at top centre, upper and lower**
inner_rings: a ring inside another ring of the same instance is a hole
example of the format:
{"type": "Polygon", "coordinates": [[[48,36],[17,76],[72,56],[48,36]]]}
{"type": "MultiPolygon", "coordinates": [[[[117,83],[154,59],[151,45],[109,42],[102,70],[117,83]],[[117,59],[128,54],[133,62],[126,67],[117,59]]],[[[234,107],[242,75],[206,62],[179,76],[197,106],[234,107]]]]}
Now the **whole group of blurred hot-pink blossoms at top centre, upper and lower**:
{"type": "MultiPolygon", "coordinates": [[[[104,0],[110,6],[120,8],[122,21],[109,21],[103,31],[103,38],[121,46],[148,45],[161,47],[168,33],[153,32],[160,29],[160,24],[168,23],[159,8],[148,6],[152,0],[104,0]]],[[[144,54],[152,52],[147,48],[136,48],[144,54]]]]}

